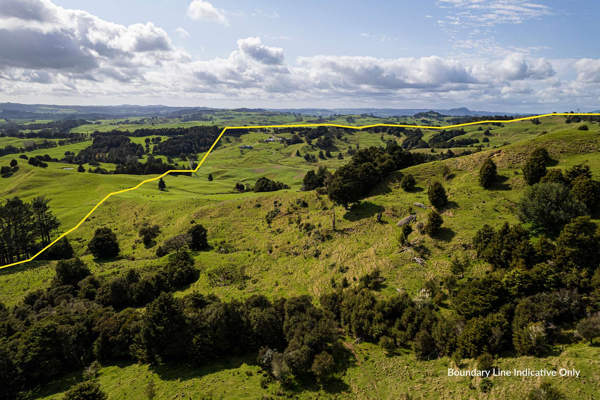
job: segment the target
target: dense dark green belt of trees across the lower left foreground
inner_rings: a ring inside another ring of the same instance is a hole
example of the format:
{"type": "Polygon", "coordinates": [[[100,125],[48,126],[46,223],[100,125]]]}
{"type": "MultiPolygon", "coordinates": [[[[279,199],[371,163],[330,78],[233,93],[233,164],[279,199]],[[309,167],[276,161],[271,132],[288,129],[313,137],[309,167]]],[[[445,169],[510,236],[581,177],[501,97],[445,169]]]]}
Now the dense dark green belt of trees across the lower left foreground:
{"type": "Polygon", "coordinates": [[[176,299],[166,291],[189,283],[197,269],[187,251],[174,256],[157,272],[140,276],[132,269],[108,281],[79,259],[59,261],[47,289],[27,294],[11,309],[0,303],[0,397],[17,398],[94,360],[205,365],[254,352],[284,384],[334,372],[341,349],[337,323],[310,297],[271,302],[253,295],[225,302],[193,292],[176,299]],[[154,298],[145,290],[152,279],[169,282],[154,298]],[[145,311],[122,309],[144,300],[149,301],[145,311]]]}

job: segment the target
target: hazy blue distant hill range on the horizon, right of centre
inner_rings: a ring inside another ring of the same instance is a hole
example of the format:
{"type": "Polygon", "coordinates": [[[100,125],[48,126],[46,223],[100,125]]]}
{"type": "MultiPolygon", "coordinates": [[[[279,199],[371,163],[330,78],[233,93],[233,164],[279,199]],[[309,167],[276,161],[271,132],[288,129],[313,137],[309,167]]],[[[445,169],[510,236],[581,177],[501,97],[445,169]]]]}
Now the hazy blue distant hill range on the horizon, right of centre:
{"type": "Polygon", "coordinates": [[[376,117],[391,116],[413,116],[418,113],[434,111],[441,115],[449,116],[493,116],[493,115],[535,115],[529,113],[509,113],[509,112],[491,112],[491,111],[472,111],[467,107],[458,109],[267,109],[269,111],[289,112],[302,115],[332,115],[332,114],[373,114],[376,117]]]}

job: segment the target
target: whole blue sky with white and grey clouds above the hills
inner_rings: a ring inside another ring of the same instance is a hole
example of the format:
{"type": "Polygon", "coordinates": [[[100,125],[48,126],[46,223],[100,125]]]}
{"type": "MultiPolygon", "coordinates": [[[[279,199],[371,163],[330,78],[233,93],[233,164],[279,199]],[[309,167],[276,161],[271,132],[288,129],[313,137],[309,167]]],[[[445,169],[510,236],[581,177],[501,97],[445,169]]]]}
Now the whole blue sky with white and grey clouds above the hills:
{"type": "Polygon", "coordinates": [[[600,109],[596,0],[0,0],[0,102],[600,109]]]}

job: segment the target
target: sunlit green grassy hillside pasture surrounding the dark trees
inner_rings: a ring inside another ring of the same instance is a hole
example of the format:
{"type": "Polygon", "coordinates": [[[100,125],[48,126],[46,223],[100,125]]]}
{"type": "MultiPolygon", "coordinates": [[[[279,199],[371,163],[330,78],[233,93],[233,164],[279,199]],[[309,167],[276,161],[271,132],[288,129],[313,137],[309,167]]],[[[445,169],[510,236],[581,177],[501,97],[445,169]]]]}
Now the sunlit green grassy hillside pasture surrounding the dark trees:
{"type": "MultiPolygon", "coordinates": [[[[417,296],[419,290],[431,278],[443,279],[451,275],[451,259],[455,255],[468,256],[473,264],[464,272],[461,282],[486,276],[490,264],[477,260],[472,238],[484,224],[499,227],[503,222],[517,224],[515,206],[528,187],[523,180],[523,165],[535,148],[545,148],[550,156],[548,167],[563,172],[575,164],[588,164],[593,179],[600,178],[600,131],[596,123],[589,124],[588,131],[578,127],[584,123],[566,125],[563,117],[541,119],[535,125],[529,121],[505,124],[504,127],[477,125],[465,129],[465,133],[453,139],[479,139],[489,142],[479,150],[475,146],[456,148],[413,148],[413,153],[455,154],[464,150],[473,154],[431,161],[395,171],[380,181],[358,204],[346,210],[332,203],[325,194],[315,191],[299,191],[302,178],[308,170],[326,166],[334,172],[349,163],[348,149],[386,146],[388,140],[402,145],[407,136],[400,137],[368,131],[331,130],[332,155],[318,158],[319,149],[306,142],[284,145],[280,142],[262,142],[272,136],[289,137],[289,133],[258,132],[235,134],[229,131],[221,145],[209,155],[205,164],[193,176],[167,176],[166,191],[158,191],[154,183],[136,191],[111,197],[97,213],[70,235],[74,250],[89,266],[92,273],[106,280],[120,276],[130,268],[153,272],[166,264],[171,255],[157,258],[157,245],[169,237],[182,233],[192,223],[200,222],[208,230],[208,248],[192,251],[199,267],[199,278],[191,284],[178,287],[178,299],[194,293],[214,293],[221,299],[247,299],[253,294],[264,294],[275,300],[278,296],[293,297],[309,294],[316,305],[320,296],[331,293],[347,279],[350,287],[358,287],[362,276],[380,271],[381,283],[374,296],[388,299],[404,291],[409,297],[417,296]],[[485,136],[485,128],[490,135],[485,136]],[[339,134],[340,139],[336,136],[339,134]],[[228,142],[229,140],[229,142],[228,142]],[[239,146],[253,146],[240,149],[239,146]],[[489,147],[487,147],[489,146],[489,147]],[[316,162],[296,157],[296,151],[304,156],[314,155],[316,162]],[[484,190],[478,184],[478,170],[485,160],[494,160],[498,178],[484,190]],[[214,178],[208,181],[209,173],[214,178]],[[400,187],[403,176],[411,174],[416,179],[415,190],[400,187]],[[270,193],[236,193],[236,182],[253,185],[266,176],[290,185],[289,190],[270,193]],[[431,204],[427,187],[439,181],[448,193],[449,203],[440,213],[442,230],[434,235],[421,234],[416,229],[409,239],[419,238],[419,257],[424,264],[415,261],[416,254],[405,251],[398,239],[400,219],[414,213],[416,221],[424,222],[428,210],[416,207],[415,202],[431,204]],[[277,210],[277,212],[273,212],[277,210]],[[271,213],[272,218],[266,217],[271,213]],[[377,215],[381,213],[380,221],[377,215]],[[332,218],[335,215],[335,230],[332,218]],[[161,233],[148,246],[139,242],[138,230],[143,222],[158,224],[161,233]],[[98,227],[115,231],[121,246],[118,259],[100,260],[87,250],[87,243],[98,227]],[[325,237],[319,240],[317,232],[325,237]]],[[[436,131],[423,130],[428,142],[436,131]]],[[[4,139],[0,138],[0,143],[4,139]]],[[[143,143],[144,137],[133,138],[143,143]]],[[[314,145],[313,141],[313,145],[314,145]]],[[[71,149],[79,151],[89,142],[40,149],[27,152],[46,154],[54,151],[56,157],[71,149]],[[68,146],[73,146],[70,148],[68,146]]],[[[3,145],[4,146],[4,145],[3,145]]],[[[50,154],[51,156],[53,154],[50,154]]],[[[147,155],[145,156],[148,157],[147,155]]],[[[157,155],[157,157],[165,158],[157,155]]],[[[199,154],[202,157],[202,154],[199,154]]],[[[0,165],[15,158],[0,158],[0,165]]],[[[174,158],[182,163],[182,160],[174,158]]],[[[19,160],[20,161],[20,160],[19,160]]],[[[110,168],[109,164],[103,164],[110,168]]],[[[61,229],[74,225],[86,210],[104,194],[131,187],[142,178],[136,175],[98,175],[65,170],[65,164],[49,163],[47,169],[19,164],[19,170],[3,177],[5,183],[0,196],[20,196],[30,200],[39,194],[52,199],[50,206],[61,221],[61,229]]],[[[88,166],[85,166],[86,168],[88,166]]],[[[599,221],[598,211],[592,220],[599,221]]],[[[532,228],[531,225],[525,225],[532,228]]],[[[539,239],[541,231],[533,230],[533,240],[539,239]]],[[[556,239],[556,235],[553,237],[556,239]]],[[[17,267],[0,270],[0,300],[7,306],[18,305],[24,294],[36,288],[50,285],[55,261],[34,261],[17,267]]],[[[439,304],[440,314],[452,312],[448,299],[439,304]]],[[[566,325],[566,332],[574,327],[566,325]]],[[[204,365],[191,366],[186,362],[140,363],[119,361],[104,363],[98,380],[110,396],[115,398],[143,398],[143,384],[148,377],[157,381],[159,396],[175,398],[184,393],[191,398],[247,398],[262,396],[283,398],[284,395],[299,399],[312,398],[402,398],[404,393],[418,390],[422,398],[523,398],[523,392],[539,384],[539,378],[494,378],[489,393],[479,389],[480,379],[449,378],[448,368],[455,361],[449,356],[432,360],[416,359],[410,345],[394,351],[384,351],[370,342],[354,343],[356,337],[343,332],[346,348],[340,359],[340,369],[329,384],[317,384],[311,380],[299,380],[293,390],[281,389],[275,381],[262,387],[266,372],[256,363],[256,355],[233,355],[221,357],[204,365]],[[201,398],[201,397],[200,397],[201,398]]],[[[571,398],[586,399],[598,387],[598,347],[572,340],[565,344],[553,344],[538,356],[518,356],[506,350],[494,359],[500,368],[576,368],[583,378],[557,379],[553,381],[571,398]]],[[[463,369],[475,368],[475,357],[461,360],[463,369]]],[[[81,369],[57,377],[50,384],[29,393],[31,399],[58,399],[74,382],[81,380],[81,369]]],[[[159,397],[160,398],[160,397],[159,397]]]]}

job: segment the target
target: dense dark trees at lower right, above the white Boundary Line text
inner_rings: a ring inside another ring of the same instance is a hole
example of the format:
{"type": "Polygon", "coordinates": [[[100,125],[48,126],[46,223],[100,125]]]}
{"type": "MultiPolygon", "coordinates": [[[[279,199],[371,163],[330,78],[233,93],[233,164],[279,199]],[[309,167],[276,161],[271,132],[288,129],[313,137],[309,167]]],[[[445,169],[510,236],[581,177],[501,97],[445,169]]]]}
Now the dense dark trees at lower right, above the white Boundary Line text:
{"type": "Polygon", "coordinates": [[[600,231],[589,217],[572,220],[556,243],[532,242],[529,231],[506,223],[485,225],[472,246],[493,267],[488,275],[457,283],[472,261],[455,256],[452,275],[428,280],[412,298],[375,296],[375,270],[358,287],[344,289],[345,281],[323,294],[320,304],[359,341],[388,351],[409,347],[419,359],[452,356],[458,365],[482,354],[542,354],[577,341],[567,332],[573,323],[587,340],[600,336],[600,318],[593,317],[600,310],[600,231]],[[442,303],[452,311],[437,312],[442,303]]]}

